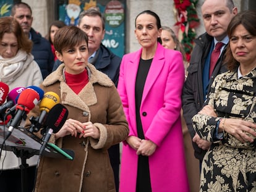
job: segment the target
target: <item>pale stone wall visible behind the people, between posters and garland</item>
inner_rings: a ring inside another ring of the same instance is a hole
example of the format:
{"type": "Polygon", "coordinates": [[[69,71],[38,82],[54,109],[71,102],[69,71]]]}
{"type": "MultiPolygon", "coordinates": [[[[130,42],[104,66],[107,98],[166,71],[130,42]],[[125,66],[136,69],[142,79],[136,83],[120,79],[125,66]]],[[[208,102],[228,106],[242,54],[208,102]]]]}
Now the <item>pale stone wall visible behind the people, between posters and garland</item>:
{"type": "MultiPolygon", "coordinates": [[[[39,31],[43,36],[48,33],[49,23],[54,20],[54,5],[56,5],[56,3],[54,3],[55,1],[56,0],[23,0],[23,2],[27,2],[32,7],[32,27],[35,28],[36,31],[39,31]]],[[[234,0],[234,3],[239,10],[241,7],[241,1],[243,0],[234,0]]],[[[174,25],[174,23],[176,23],[173,0],[127,0],[126,2],[126,52],[136,51],[140,48],[140,45],[135,39],[134,35],[134,20],[136,15],[143,10],[150,9],[156,12],[161,19],[162,25],[171,27],[174,25]]],[[[197,35],[205,31],[200,10],[202,3],[203,0],[198,0],[197,14],[200,18],[201,24],[198,28],[196,28],[197,35]]]]}

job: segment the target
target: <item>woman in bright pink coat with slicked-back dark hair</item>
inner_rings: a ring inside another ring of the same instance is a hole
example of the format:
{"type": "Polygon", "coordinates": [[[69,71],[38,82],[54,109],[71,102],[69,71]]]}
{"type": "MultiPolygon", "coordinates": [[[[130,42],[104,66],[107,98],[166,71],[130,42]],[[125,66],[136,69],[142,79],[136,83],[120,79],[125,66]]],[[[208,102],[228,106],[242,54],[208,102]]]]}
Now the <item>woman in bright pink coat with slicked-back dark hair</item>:
{"type": "Polygon", "coordinates": [[[117,90],[130,133],[122,148],[120,192],[189,191],[181,128],[181,52],[161,46],[158,15],[135,19],[142,48],[122,58],[117,90]],[[160,42],[160,43],[159,43],[160,42]]]}

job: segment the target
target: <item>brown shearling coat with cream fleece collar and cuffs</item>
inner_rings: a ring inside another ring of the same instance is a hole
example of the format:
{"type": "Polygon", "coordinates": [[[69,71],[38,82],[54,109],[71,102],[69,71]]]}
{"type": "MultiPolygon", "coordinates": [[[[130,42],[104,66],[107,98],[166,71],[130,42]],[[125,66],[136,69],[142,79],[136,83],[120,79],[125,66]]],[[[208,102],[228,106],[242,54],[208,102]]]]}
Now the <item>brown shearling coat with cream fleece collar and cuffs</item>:
{"type": "Polygon", "coordinates": [[[88,64],[89,82],[75,94],[64,81],[64,64],[51,73],[41,86],[61,98],[69,110],[67,119],[91,121],[100,130],[100,139],[65,136],[54,141],[60,148],[75,152],[73,161],[42,157],[38,167],[35,191],[114,192],[114,175],[108,148],[123,140],[129,128],[121,99],[113,82],[104,73],[88,64]]]}

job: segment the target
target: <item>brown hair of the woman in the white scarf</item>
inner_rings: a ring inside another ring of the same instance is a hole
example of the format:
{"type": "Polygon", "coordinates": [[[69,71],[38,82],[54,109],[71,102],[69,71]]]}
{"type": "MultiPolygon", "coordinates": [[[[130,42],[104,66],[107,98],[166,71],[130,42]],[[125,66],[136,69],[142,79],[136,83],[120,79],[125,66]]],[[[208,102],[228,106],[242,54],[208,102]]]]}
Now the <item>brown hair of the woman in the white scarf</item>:
{"type": "Polygon", "coordinates": [[[17,38],[19,49],[29,53],[32,50],[32,41],[24,34],[22,27],[14,17],[0,17],[0,40],[4,33],[14,33],[17,38]]]}

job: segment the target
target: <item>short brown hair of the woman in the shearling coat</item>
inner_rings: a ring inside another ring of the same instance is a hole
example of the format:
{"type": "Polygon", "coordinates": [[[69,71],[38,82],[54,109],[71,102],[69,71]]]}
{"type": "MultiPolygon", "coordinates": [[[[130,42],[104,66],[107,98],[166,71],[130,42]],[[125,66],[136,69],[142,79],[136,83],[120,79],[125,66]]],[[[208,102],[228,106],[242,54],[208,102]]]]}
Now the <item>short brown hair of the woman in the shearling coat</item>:
{"type": "Polygon", "coordinates": [[[55,33],[53,46],[56,51],[62,54],[63,50],[74,47],[83,41],[88,47],[88,36],[83,30],[75,26],[65,26],[55,33]]]}

